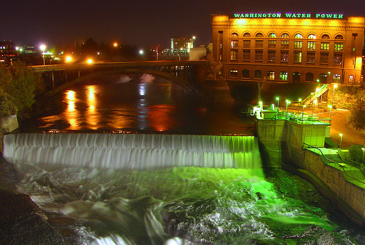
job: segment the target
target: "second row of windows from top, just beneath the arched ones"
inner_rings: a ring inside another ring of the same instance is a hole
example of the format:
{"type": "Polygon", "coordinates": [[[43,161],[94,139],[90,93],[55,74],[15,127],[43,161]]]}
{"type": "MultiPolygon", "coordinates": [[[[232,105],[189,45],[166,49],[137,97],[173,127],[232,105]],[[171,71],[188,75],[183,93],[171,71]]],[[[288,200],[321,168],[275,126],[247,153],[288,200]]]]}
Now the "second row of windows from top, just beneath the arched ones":
{"type": "MultiPolygon", "coordinates": [[[[315,50],[316,42],[307,42],[307,50],[315,50]]],[[[302,49],[302,41],[294,41],[294,49],[302,49]]],[[[251,48],[251,40],[243,40],[243,48],[251,48]]],[[[263,49],[264,41],[255,40],[255,49],[263,49]]],[[[231,40],[231,49],[238,49],[238,40],[231,40]]],[[[276,40],[268,41],[268,49],[276,49],[276,40]]],[[[289,41],[280,41],[280,49],[289,49],[289,41]]],[[[335,51],[343,51],[344,43],[334,43],[335,51]]],[[[329,42],[321,42],[321,50],[329,50],[329,42]]]]}

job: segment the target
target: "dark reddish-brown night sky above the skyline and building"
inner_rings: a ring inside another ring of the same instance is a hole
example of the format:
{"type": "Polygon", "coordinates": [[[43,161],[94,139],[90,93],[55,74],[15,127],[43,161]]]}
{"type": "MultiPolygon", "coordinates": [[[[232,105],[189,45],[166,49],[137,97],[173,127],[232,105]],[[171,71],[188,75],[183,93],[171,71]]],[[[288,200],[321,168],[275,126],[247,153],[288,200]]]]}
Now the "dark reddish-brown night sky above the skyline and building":
{"type": "Polygon", "coordinates": [[[235,12],[339,13],[364,16],[365,0],[5,0],[0,39],[16,45],[106,44],[169,48],[170,37],[212,40],[211,14],[235,12]]]}

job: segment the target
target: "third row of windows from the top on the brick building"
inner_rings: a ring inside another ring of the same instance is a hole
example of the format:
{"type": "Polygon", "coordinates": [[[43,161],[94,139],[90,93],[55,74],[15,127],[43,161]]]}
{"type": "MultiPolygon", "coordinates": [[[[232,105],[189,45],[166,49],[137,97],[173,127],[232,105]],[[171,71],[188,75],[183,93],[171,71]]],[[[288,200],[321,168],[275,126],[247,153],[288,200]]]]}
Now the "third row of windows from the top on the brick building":
{"type": "MultiPolygon", "coordinates": [[[[242,60],[250,61],[251,60],[251,50],[242,49],[242,60]]],[[[238,50],[231,49],[231,61],[238,61],[238,50]]],[[[263,61],[263,50],[255,50],[255,61],[263,61]]],[[[268,50],[268,59],[269,62],[276,61],[276,51],[268,50]]],[[[280,51],[280,61],[289,62],[289,51],[280,51]]],[[[293,51],[293,62],[302,62],[302,51],[293,51]]],[[[307,62],[314,63],[315,62],[315,52],[307,52],[307,62]]],[[[321,52],[319,57],[319,63],[328,64],[329,62],[329,52],[321,52]]],[[[334,53],[333,54],[333,64],[342,64],[342,53],[334,53]]]]}

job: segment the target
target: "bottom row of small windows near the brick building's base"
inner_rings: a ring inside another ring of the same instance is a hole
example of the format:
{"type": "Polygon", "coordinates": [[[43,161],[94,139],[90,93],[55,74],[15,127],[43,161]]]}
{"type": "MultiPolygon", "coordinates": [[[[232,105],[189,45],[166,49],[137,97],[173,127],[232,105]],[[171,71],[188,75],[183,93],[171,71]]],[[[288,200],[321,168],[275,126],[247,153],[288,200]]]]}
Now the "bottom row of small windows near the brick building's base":
{"type": "MultiPolygon", "coordinates": [[[[238,70],[231,69],[230,71],[230,78],[237,78],[238,70]]],[[[293,81],[299,82],[301,74],[299,72],[293,72],[293,81]]],[[[250,71],[249,70],[242,70],[242,79],[249,79],[250,78],[250,71]]],[[[254,71],[254,78],[255,79],[262,79],[262,71],[255,70],[254,71]]],[[[275,72],[274,71],[267,71],[266,73],[267,80],[275,80],[275,72]]],[[[279,72],[279,80],[288,81],[288,72],[287,71],[280,71],[279,72]]],[[[327,74],[321,73],[319,74],[319,82],[325,83],[327,81],[327,74]]],[[[333,74],[332,81],[338,82],[341,80],[340,74],[333,74]]],[[[314,74],[311,72],[306,73],[306,81],[314,82],[314,74]]],[[[349,76],[349,82],[354,81],[354,76],[349,76]]]]}

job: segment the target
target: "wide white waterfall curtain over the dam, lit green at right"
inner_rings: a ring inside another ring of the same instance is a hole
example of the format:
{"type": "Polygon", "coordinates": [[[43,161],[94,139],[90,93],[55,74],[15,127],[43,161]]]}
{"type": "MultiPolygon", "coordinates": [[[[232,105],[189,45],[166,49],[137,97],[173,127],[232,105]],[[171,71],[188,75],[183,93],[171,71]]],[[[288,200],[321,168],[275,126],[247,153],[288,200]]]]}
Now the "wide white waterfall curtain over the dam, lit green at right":
{"type": "Polygon", "coordinates": [[[254,136],[123,133],[13,133],[3,136],[8,161],[97,168],[171,166],[261,168],[254,136]]]}

